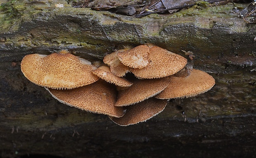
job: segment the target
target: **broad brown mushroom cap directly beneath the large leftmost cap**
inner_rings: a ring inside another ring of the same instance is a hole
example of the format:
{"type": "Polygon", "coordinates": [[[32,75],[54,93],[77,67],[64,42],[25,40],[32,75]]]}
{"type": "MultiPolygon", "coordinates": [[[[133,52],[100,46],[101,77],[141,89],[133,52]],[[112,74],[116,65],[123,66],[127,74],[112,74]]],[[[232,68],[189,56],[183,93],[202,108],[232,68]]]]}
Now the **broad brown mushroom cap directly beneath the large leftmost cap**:
{"type": "Polygon", "coordinates": [[[101,79],[93,84],[69,90],[46,89],[59,102],[71,107],[114,117],[124,115],[122,107],[114,106],[116,101],[115,86],[101,79]]]}

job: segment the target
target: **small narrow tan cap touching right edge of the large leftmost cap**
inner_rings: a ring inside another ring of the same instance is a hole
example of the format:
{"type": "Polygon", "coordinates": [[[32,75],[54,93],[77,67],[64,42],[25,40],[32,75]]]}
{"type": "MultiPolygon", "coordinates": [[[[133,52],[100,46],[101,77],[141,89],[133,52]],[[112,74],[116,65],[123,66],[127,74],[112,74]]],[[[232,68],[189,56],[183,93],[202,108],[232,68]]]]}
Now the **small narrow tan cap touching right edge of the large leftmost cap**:
{"type": "Polygon", "coordinates": [[[100,66],[98,69],[93,70],[92,73],[111,84],[115,84],[116,86],[129,87],[133,84],[126,79],[115,76],[110,72],[110,68],[108,66],[100,66]]]}

